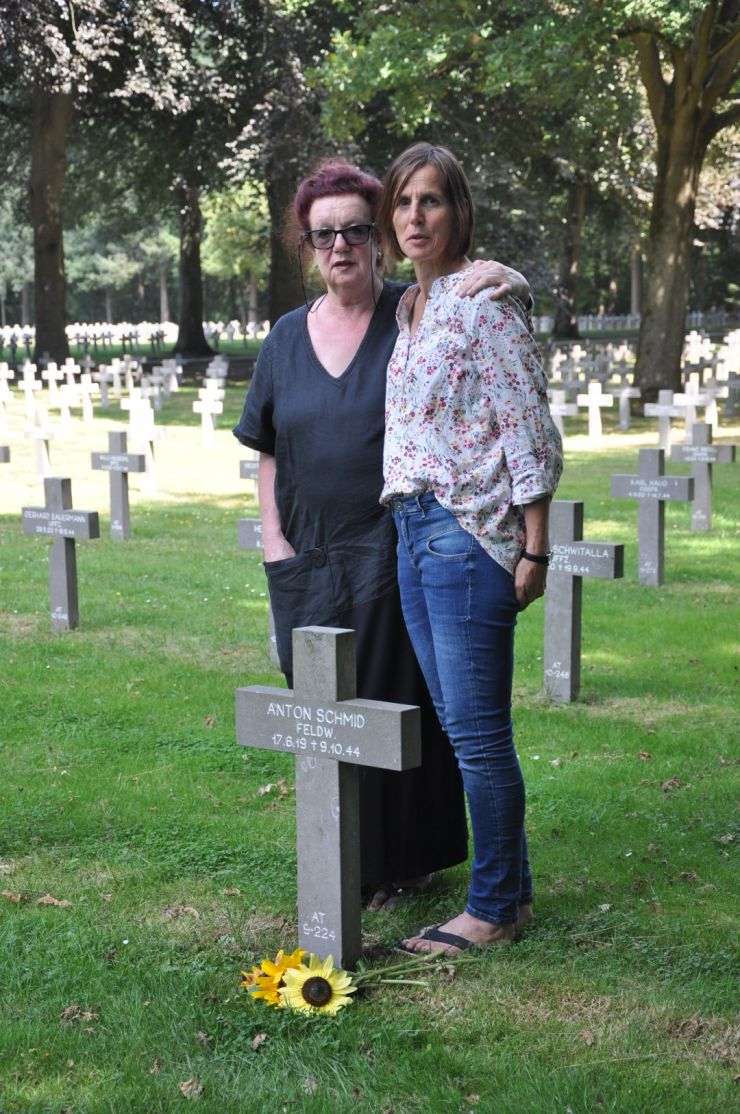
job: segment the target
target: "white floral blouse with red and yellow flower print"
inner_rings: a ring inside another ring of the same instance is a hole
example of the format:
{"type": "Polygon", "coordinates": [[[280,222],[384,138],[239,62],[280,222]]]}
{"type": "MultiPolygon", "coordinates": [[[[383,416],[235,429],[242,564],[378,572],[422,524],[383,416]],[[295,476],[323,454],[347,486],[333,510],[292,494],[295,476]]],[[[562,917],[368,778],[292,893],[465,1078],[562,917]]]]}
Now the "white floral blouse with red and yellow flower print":
{"type": "Polygon", "coordinates": [[[458,297],[461,273],[437,278],[411,336],[411,286],[397,311],[399,336],[386,384],[384,486],[437,500],[508,571],[526,531],[522,506],[553,495],[561,436],[526,312],[488,292],[458,297]]]}

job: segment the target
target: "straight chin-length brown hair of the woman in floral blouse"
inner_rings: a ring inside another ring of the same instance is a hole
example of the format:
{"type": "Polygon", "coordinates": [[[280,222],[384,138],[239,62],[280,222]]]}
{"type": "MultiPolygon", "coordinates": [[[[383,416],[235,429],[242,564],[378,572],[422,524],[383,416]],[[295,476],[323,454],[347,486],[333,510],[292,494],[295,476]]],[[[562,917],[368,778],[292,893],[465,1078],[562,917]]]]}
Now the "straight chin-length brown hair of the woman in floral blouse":
{"type": "Polygon", "coordinates": [[[456,235],[450,244],[450,254],[461,258],[470,251],[473,243],[474,213],[470,186],[463,167],[447,147],[430,143],[415,143],[393,160],[383,179],[383,193],[376,221],[380,229],[383,247],[393,260],[406,256],[393,231],[393,209],[401,189],[411,175],[422,166],[434,166],[439,174],[445,197],[455,209],[456,235]]]}

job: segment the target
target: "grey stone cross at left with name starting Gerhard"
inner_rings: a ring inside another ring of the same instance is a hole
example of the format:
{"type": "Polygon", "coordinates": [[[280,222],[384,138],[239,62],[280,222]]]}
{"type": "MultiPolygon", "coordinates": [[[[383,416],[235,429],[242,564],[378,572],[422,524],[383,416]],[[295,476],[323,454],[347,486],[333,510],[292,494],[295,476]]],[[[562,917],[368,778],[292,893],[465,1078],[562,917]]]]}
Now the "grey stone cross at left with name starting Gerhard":
{"type": "Polygon", "coordinates": [[[97,510],[72,510],[71,480],[48,476],[43,481],[45,507],[23,507],[23,532],[52,537],[49,555],[51,626],[74,631],[79,624],[77,597],[77,538],[99,538],[97,510]]]}

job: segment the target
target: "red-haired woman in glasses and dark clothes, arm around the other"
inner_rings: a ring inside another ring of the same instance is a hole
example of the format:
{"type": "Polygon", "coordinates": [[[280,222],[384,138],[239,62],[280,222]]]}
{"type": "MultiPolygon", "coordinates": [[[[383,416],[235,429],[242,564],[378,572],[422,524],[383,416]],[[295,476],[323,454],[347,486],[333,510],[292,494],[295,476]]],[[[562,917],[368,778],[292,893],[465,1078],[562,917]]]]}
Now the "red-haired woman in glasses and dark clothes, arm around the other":
{"type": "MultiPolygon", "coordinates": [[[[386,368],[406,286],[381,274],[374,217],[381,184],[338,159],[300,186],[301,266],[325,293],[281,317],[257,360],[234,434],[260,453],[265,571],[281,667],[292,684],[292,631],[357,633],[358,695],[421,706],[422,764],[361,769],[362,882],[371,907],[467,859],[461,781],[401,616],[396,537],[382,489],[386,368]]],[[[528,296],[497,263],[470,272],[460,294],[493,286],[528,296]]]]}

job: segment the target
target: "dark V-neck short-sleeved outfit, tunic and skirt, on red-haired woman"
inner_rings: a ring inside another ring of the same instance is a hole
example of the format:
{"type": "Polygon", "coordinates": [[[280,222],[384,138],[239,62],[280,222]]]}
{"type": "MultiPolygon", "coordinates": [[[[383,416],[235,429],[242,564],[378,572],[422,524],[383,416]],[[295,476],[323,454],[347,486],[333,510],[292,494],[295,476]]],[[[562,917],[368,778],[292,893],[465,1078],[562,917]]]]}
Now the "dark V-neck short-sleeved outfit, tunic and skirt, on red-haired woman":
{"type": "Polygon", "coordinates": [[[386,367],[403,286],[384,283],[345,371],[330,375],[308,331],[308,310],[267,335],[234,436],[276,461],[275,499],[295,556],[265,561],[278,653],[292,685],[292,631],[357,632],[358,696],[421,707],[422,764],[360,770],[363,885],[400,881],[467,859],[465,798],[401,615],[396,531],[379,504],[386,367]]]}

